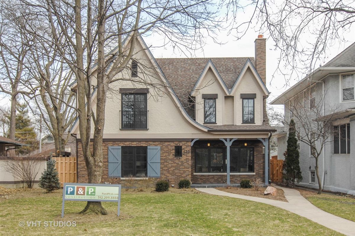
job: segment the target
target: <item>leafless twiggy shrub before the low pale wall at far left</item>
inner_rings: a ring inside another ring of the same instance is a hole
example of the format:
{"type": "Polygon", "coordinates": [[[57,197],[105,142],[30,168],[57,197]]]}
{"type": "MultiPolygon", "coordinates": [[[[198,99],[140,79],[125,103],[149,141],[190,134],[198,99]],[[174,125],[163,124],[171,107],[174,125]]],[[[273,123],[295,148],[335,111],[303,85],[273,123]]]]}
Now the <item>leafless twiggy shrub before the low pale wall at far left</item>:
{"type": "Polygon", "coordinates": [[[4,161],[5,170],[13,177],[26,183],[28,188],[33,188],[34,180],[38,175],[39,157],[7,157],[4,161]]]}

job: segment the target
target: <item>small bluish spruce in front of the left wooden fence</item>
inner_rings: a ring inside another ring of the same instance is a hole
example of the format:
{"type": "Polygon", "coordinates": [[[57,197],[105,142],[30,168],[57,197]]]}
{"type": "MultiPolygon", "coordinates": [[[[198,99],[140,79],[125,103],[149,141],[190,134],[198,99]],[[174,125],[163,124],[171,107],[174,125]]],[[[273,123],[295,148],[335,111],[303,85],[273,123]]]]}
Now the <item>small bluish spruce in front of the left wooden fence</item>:
{"type": "Polygon", "coordinates": [[[42,176],[39,179],[39,187],[47,190],[48,193],[60,189],[58,171],[55,168],[55,160],[48,160],[47,170],[42,173],[42,176]]]}

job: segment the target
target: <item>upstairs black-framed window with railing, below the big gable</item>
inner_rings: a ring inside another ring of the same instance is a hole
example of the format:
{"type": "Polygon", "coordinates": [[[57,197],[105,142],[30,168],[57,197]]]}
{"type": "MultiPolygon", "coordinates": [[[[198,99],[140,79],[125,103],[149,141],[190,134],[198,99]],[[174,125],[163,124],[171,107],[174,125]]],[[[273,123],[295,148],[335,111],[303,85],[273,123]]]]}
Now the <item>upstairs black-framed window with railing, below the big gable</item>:
{"type": "Polygon", "coordinates": [[[147,129],[147,93],[122,93],[122,129],[147,129]]]}

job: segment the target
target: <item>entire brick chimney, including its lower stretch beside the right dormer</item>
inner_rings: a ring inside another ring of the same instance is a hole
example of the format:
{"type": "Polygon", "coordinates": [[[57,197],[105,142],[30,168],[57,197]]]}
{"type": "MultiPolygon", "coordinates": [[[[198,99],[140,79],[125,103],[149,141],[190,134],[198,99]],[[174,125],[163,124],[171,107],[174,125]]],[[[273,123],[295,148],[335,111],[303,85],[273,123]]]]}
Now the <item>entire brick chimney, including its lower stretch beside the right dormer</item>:
{"type": "MultiPolygon", "coordinates": [[[[261,77],[261,80],[266,85],[266,38],[262,34],[255,39],[255,69],[261,77]]],[[[266,97],[263,97],[263,124],[269,124],[269,119],[266,113],[266,97]]]]}

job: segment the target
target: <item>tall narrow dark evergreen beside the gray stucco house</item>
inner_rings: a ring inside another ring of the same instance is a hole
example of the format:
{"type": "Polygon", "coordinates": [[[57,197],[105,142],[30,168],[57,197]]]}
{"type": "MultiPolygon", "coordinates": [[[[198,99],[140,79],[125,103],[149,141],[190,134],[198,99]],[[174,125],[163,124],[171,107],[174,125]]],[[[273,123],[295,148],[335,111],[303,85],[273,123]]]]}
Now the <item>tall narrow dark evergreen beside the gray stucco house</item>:
{"type": "Polygon", "coordinates": [[[285,160],[283,163],[284,179],[287,186],[295,182],[299,183],[302,180],[300,168],[300,153],[297,149],[296,128],[293,119],[290,121],[289,136],[287,139],[287,149],[284,153],[285,160]]]}

